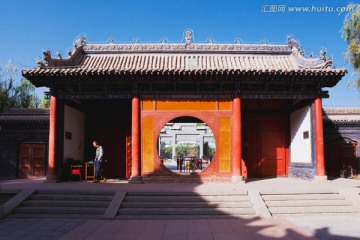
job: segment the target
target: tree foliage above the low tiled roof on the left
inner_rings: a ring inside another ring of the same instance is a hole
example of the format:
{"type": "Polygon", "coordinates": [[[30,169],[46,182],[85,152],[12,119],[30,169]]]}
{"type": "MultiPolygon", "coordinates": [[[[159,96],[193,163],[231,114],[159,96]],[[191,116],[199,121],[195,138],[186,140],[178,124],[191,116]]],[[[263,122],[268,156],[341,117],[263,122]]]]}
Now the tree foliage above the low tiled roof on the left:
{"type": "Polygon", "coordinates": [[[35,94],[35,86],[25,78],[18,80],[17,76],[17,68],[12,61],[4,67],[0,66],[0,112],[5,107],[36,108],[41,104],[35,94]]]}

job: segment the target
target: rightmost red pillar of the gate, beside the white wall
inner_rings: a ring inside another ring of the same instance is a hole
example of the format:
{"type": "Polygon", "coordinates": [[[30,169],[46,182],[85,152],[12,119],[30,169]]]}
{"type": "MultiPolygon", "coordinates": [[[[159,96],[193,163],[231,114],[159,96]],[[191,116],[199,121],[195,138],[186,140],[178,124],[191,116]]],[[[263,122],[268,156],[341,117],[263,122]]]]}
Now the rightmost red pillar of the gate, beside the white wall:
{"type": "Polygon", "coordinates": [[[314,101],[315,112],[315,151],[316,151],[316,176],[325,177],[325,158],[324,158],[324,132],[322,119],[321,98],[314,101]]]}

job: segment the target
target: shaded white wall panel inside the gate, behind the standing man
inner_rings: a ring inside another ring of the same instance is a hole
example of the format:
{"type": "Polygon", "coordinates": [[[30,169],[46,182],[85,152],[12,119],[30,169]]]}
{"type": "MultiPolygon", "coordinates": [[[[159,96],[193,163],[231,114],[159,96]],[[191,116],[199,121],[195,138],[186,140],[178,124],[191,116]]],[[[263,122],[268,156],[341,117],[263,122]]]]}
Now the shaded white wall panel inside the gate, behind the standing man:
{"type": "Polygon", "coordinates": [[[85,115],[65,105],[64,109],[64,158],[84,161],[85,115]],[[66,132],[71,139],[66,139],[66,132]]]}

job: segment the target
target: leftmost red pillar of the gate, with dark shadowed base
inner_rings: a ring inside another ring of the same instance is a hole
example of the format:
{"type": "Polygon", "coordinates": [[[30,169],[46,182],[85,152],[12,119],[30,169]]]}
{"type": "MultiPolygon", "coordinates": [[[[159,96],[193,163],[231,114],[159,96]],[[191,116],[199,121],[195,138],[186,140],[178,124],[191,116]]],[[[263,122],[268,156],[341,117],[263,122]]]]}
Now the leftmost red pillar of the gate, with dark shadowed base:
{"type": "Polygon", "coordinates": [[[55,159],[56,159],[56,98],[50,97],[50,128],[49,128],[49,157],[48,157],[48,169],[45,182],[58,181],[58,176],[55,171],[55,159]]]}

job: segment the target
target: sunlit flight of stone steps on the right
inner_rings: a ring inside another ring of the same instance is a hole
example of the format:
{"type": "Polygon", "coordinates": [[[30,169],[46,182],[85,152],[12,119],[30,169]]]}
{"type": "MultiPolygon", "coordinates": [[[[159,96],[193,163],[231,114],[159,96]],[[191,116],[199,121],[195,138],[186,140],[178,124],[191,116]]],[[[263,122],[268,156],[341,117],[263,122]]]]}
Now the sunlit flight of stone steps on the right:
{"type": "Polygon", "coordinates": [[[360,213],[336,191],[262,191],[260,194],[272,217],[360,213]]]}

